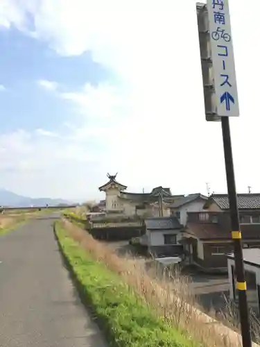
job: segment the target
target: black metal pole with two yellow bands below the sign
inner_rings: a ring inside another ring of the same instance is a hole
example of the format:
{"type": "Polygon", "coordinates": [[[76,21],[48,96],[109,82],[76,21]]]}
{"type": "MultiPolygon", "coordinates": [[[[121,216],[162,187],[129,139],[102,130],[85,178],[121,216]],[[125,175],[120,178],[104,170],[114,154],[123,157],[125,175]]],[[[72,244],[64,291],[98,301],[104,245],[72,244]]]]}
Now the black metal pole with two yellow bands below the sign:
{"type": "Polygon", "coordinates": [[[234,260],[236,267],[236,289],[239,291],[239,314],[241,321],[241,335],[243,347],[252,347],[251,327],[246,295],[245,269],[243,263],[243,251],[241,242],[241,230],[239,225],[239,208],[236,198],[236,183],[234,177],[234,164],[232,156],[232,144],[230,137],[229,118],[221,118],[223,146],[225,154],[225,168],[227,175],[227,191],[229,198],[229,212],[232,227],[232,239],[234,240],[234,260]]]}

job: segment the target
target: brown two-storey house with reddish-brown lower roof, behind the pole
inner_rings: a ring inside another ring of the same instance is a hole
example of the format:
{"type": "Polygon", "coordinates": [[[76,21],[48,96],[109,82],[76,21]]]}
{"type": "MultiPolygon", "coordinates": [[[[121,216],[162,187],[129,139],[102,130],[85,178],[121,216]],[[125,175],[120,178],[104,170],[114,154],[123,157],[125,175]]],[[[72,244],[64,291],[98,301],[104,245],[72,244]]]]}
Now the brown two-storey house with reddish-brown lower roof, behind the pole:
{"type": "MultiPolygon", "coordinates": [[[[260,248],[260,211],[240,212],[243,248],[260,248]],[[257,217],[258,216],[258,217],[257,217]]],[[[183,233],[189,262],[205,271],[227,271],[227,254],[233,251],[229,211],[188,212],[183,233]]]]}

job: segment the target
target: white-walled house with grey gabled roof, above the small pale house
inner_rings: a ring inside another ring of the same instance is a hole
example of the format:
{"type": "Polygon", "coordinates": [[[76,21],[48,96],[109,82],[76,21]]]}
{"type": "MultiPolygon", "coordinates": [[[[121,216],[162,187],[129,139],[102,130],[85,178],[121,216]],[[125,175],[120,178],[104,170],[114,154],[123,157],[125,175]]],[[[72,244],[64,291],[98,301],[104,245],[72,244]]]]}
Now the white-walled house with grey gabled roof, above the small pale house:
{"type": "Polygon", "coordinates": [[[189,194],[176,199],[173,203],[168,204],[168,208],[171,211],[171,215],[179,219],[183,226],[187,224],[188,212],[200,212],[204,211],[204,206],[207,201],[207,196],[200,193],[189,194]]]}

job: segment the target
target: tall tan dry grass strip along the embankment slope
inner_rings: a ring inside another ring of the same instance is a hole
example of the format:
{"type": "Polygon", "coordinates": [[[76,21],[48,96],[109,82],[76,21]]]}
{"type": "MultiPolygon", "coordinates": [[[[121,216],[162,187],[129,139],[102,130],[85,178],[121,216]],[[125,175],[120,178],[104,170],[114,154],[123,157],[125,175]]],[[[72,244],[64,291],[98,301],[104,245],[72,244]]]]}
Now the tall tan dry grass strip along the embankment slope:
{"type": "Polygon", "coordinates": [[[119,257],[110,247],[66,219],[62,220],[62,225],[95,260],[104,262],[108,269],[118,273],[165,321],[188,332],[205,347],[241,346],[236,332],[194,308],[196,299],[191,293],[188,277],[177,272],[162,273],[158,268],[147,271],[138,260],[119,257]]]}

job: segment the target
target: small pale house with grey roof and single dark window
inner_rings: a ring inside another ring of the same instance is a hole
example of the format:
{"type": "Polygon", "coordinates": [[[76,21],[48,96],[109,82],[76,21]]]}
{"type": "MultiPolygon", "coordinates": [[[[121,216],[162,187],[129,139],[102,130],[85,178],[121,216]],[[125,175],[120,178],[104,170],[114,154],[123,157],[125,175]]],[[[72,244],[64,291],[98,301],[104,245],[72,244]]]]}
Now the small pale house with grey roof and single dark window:
{"type": "Polygon", "coordinates": [[[148,253],[155,257],[176,256],[183,254],[182,226],[175,217],[155,217],[144,221],[146,233],[141,237],[141,244],[147,246],[148,253]]]}

